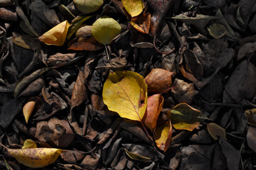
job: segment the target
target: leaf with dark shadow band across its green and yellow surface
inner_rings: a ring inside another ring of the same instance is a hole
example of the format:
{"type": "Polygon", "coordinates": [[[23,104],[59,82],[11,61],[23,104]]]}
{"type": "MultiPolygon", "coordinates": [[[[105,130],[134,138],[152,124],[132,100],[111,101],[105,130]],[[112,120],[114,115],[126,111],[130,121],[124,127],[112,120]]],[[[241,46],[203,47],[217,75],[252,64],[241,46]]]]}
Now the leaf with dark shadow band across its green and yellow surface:
{"type": "Polygon", "coordinates": [[[200,125],[203,120],[201,111],[189,106],[187,103],[179,103],[174,106],[168,115],[171,118],[171,124],[177,130],[192,131],[200,125]]]}

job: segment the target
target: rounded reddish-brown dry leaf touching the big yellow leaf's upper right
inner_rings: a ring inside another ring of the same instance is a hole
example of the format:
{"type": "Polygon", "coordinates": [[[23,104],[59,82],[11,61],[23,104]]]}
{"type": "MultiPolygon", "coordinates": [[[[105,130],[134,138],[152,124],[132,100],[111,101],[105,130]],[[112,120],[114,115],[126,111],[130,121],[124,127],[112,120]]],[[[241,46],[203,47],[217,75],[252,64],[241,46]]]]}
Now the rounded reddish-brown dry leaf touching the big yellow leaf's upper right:
{"type": "Polygon", "coordinates": [[[165,69],[152,69],[145,77],[149,93],[161,94],[163,91],[169,89],[172,84],[173,76],[174,72],[169,72],[165,69]]]}

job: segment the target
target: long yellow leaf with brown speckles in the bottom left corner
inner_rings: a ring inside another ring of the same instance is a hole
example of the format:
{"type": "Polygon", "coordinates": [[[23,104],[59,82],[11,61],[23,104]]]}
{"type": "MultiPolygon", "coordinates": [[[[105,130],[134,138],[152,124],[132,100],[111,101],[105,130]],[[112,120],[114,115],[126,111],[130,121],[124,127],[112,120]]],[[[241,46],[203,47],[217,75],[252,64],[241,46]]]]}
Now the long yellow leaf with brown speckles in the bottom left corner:
{"type": "Polygon", "coordinates": [[[63,150],[55,148],[7,149],[11,157],[30,168],[42,168],[53,164],[63,150]]]}

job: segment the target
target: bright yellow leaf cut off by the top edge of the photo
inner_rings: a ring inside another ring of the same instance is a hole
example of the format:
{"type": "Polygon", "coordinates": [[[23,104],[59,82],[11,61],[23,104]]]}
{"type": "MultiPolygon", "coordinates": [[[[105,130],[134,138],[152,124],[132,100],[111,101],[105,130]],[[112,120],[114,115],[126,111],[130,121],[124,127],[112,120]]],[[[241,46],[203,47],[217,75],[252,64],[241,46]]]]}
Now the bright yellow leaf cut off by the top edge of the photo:
{"type": "Polygon", "coordinates": [[[139,16],[144,8],[142,0],[122,0],[122,4],[132,17],[139,16]]]}

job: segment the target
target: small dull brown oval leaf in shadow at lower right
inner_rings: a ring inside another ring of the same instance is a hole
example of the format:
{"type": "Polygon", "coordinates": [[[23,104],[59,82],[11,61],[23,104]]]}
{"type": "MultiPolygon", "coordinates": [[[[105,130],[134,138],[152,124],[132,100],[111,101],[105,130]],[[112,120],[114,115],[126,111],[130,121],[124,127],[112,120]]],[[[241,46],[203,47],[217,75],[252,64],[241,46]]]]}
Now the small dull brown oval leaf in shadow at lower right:
{"type": "Polygon", "coordinates": [[[221,128],[219,125],[215,123],[208,123],[207,130],[214,140],[218,140],[219,137],[223,137],[223,139],[227,140],[225,129],[221,128]]]}

